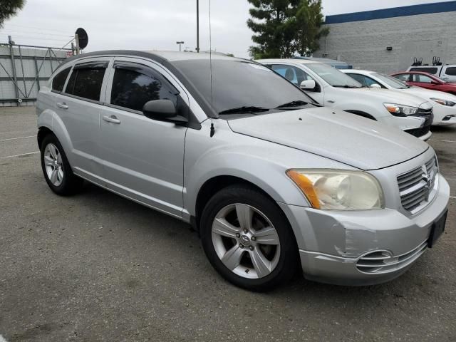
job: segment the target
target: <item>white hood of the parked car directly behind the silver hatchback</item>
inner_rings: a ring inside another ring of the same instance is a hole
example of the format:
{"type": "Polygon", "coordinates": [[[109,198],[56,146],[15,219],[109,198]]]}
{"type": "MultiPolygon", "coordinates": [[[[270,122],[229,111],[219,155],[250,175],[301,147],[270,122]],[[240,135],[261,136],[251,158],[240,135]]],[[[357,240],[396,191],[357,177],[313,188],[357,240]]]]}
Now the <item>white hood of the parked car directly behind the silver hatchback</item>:
{"type": "Polygon", "coordinates": [[[410,107],[419,108],[426,100],[415,95],[404,93],[398,90],[378,89],[378,88],[353,88],[346,89],[352,95],[370,96],[371,98],[383,103],[397,103],[399,105],[409,105],[410,107]]]}

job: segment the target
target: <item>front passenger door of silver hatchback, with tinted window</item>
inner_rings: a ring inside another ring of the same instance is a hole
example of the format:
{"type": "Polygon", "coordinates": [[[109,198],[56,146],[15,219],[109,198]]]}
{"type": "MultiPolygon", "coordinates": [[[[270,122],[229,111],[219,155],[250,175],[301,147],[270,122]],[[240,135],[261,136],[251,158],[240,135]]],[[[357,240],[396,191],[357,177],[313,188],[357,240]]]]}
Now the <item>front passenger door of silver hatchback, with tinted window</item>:
{"type": "Polygon", "coordinates": [[[187,127],[142,115],[150,100],[169,99],[182,115],[185,90],[158,64],[115,58],[100,113],[107,187],[150,207],[182,217],[184,143],[187,127]]]}

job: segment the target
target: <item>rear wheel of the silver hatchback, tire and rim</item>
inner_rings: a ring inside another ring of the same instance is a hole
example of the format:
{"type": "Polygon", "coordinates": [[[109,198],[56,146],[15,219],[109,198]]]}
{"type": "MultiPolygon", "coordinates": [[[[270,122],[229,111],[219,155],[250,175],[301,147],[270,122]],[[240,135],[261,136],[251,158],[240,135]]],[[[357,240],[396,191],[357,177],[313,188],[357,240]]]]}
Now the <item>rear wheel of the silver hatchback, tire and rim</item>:
{"type": "Polygon", "coordinates": [[[65,151],[55,135],[46,135],[40,152],[44,179],[53,192],[68,196],[81,189],[83,180],[73,174],[65,151]]]}

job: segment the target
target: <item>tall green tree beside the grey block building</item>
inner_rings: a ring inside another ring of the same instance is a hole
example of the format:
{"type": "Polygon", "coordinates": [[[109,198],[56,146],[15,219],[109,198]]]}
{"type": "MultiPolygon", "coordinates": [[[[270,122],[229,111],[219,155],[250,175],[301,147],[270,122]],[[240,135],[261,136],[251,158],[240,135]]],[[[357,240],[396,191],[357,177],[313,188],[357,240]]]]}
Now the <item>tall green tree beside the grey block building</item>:
{"type": "Polygon", "coordinates": [[[248,0],[253,8],[247,26],[254,31],[249,48],[252,58],[289,58],[308,55],[328,34],[322,28],[321,0],[248,0]]]}

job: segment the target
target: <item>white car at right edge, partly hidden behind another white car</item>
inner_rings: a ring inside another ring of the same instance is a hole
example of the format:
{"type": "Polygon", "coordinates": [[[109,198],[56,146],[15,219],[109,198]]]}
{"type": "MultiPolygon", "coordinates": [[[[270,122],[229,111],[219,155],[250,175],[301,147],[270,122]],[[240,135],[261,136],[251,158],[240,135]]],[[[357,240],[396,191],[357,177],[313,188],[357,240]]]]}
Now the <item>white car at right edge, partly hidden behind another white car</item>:
{"type": "Polygon", "coordinates": [[[408,86],[397,78],[366,70],[343,70],[343,73],[355,79],[363,86],[400,90],[427,101],[434,106],[432,125],[454,125],[456,123],[456,96],[441,91],[408,86]]]}

